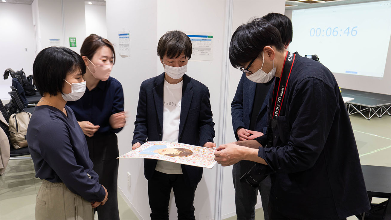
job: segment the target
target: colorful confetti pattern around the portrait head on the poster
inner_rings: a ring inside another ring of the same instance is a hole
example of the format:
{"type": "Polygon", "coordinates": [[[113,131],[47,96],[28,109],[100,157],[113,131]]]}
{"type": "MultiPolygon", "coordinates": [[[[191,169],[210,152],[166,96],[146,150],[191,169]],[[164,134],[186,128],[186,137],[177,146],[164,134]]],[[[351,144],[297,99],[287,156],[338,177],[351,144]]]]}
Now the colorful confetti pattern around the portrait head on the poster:
{"type": "Polygon", "coordinates": [[[141,145],[139,148],[132,150],[118,158],[148,158],[181,163],[191,166],[199,166],[212,169],[217,163],[214,156],[215,149],[207,147],[199,147],[177,142],[167,141],[149,141],[141,145]],[[166,156],[158,152],[160,148],[186,148],[193,153],[189,156],[176,157],[166,156]]]}

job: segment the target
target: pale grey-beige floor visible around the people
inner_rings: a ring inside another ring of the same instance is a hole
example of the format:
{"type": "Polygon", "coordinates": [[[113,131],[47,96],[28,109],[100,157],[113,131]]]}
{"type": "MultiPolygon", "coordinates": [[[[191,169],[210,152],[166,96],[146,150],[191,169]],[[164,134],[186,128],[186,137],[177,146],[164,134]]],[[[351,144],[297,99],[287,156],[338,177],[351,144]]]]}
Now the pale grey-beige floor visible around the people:
{"type": "MultiPolygon", "coordinates": [[[[366,120],[351,116],[361,164],[391,166],[391,116],[366,120]]],[[[13,160],[5,174],[0,176],[0,219],[34,219],[35,197],[41,180],[34,177],[31,160],[13,160]]],[[[377,200],[373,200],[377,202],[377,200]]],[[[378,199],[382,201],[382,199],[378,199]]],[[[118,205],[121,219],[136,219],[120,195],[118,205]]],[[[197,208],[197,207],[196,207],[197,208]]],[[[263,210],[256,210],[256,219],[263,219],[263,210]]],[[[97,218],[96,218],[97,219],[97,218]]],[[[227,218],[236,219],[236,216],[227,218]]],[[[357,219],[354,216],[348,220],[357,219]]]]}

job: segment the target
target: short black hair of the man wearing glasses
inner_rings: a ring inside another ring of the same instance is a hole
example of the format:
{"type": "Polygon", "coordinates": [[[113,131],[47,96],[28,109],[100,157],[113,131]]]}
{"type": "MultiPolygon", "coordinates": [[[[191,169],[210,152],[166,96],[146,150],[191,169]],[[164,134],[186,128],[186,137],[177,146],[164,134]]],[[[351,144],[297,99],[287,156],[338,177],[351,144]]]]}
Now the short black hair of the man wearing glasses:
{"type": "Polygon", "coordinates": [[[284,49],[278,29],[262,18],[240,25],[232,34],[230,43],[232,66],[239,68],[260,56],[265,46],[274,46],[279,51],[284,49]]]}

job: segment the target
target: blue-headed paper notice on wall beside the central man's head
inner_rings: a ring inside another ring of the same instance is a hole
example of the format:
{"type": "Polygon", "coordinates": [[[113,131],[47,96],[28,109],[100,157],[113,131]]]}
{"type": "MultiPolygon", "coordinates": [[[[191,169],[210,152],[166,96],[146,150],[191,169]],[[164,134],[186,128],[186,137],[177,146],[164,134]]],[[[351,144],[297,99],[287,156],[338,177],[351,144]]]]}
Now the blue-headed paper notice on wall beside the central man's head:
{"type": "Polygon", "coordinates": [[[186,32],[192,41],[192,57],[190,61],[212,60],[213,34],[203,32],[186,32]]]}

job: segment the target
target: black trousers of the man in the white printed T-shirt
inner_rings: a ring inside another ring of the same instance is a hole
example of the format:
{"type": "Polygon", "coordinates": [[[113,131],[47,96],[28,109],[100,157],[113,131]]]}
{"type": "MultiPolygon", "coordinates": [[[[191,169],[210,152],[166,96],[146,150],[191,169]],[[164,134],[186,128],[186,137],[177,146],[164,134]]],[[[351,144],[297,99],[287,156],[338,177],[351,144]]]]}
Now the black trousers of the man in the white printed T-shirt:
{"type": "Polygon", "coordinates": [[[183,174],[166,174],[156,171],[148,180],[148,199],[151,219],[169,219],[171,188],[174,190],[178,219],[195,219],[194,193],[197,188],[188,184],[183,174]]]}

